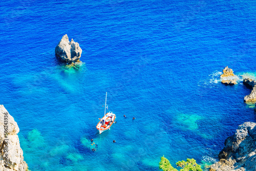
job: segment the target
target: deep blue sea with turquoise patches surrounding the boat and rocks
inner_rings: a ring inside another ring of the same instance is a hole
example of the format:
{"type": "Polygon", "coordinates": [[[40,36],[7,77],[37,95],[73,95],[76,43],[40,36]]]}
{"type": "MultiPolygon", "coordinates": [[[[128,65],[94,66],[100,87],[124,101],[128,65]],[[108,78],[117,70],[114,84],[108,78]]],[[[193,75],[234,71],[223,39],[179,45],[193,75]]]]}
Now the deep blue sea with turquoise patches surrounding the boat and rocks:
{"type": "Polygon", "coordinates": [[[256,120],[242,84],[256,76],[255,3],[1,1],[0,104],[18,123],[29,169],[216,161],[238,125],[256,120]],[[83,50],[79,70],[55,59],[64,34],[83,50]],[[239,84],[220,83],[225,66],[239,84]],[[117,123],[99,135],[105,92],[117,123]]]}

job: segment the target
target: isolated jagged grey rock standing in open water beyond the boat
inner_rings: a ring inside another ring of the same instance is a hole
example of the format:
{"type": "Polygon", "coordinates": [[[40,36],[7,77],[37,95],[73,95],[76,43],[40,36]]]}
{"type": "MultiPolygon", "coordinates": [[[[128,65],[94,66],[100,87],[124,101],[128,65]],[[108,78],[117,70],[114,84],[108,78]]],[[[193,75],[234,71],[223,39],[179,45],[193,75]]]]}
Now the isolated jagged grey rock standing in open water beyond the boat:
{"type": "Polygon", "coordinates": [[[75,42],[73,38],[69,41],[68,35],[65,34],[56,46],[55,54],[61,61],[71,64],[79,62],[82,49],[79,47],[78,42],[75,42]]]}

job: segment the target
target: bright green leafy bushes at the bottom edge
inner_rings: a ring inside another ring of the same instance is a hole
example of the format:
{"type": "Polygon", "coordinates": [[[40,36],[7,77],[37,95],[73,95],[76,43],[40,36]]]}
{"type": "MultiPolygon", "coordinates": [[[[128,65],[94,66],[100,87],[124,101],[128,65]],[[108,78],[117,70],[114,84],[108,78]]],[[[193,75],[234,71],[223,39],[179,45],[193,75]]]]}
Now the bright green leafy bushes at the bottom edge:
{"type": "MultiPolygon", "coordinates": [[[[196,163],[195,159],[178,161],[176,165],[181,167],[180,171],[202,171],[201,166],[196,163]]],[[[178,169],[174,168],[170,164],[169,160],[166,159],[164,156],[161,157],[161,161],[159,162],[159,168],[163,169],[163,171],[178,171],[178,169]]]]}

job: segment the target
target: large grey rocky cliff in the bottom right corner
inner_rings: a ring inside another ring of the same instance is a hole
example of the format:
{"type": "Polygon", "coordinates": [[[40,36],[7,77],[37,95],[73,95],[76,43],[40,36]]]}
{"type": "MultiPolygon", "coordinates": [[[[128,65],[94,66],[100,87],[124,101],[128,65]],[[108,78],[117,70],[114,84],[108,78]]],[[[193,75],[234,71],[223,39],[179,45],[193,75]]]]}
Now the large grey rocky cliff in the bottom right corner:
{"type": "Polygon", "coordinates": [[[256,123],[239,125],[234,135],[228,137],[219,154],[220,161],[210,166],[211,171],[247,170],[256,168],[256,123]]]}

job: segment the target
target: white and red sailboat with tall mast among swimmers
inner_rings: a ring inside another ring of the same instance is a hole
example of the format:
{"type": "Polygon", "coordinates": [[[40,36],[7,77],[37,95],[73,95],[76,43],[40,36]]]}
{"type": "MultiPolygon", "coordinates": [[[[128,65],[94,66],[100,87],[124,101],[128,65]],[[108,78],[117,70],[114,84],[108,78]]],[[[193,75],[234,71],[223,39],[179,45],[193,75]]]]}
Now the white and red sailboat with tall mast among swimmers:
{"type": "MultiPolygon", "coordinates": [[[[107,94],[107,92],[106,92],[107,94]]],[[[106,130],[110,130],[110,127],[115,122],[116,115],[112,112],[106,113],[106,100],[105,100],[105,112],[104,117],[100,119],[99,123],[97,124],[96,128],[99,130],[99,134],[103,133],[106,130]]]]}

